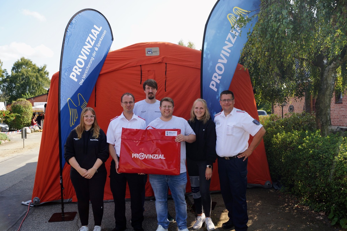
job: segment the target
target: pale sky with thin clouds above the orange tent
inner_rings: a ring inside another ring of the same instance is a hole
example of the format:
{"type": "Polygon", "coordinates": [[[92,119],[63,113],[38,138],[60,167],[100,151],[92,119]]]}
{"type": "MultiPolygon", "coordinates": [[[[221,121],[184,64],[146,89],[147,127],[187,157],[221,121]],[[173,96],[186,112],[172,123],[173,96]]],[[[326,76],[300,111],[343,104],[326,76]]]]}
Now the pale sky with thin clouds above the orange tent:
{"type": "Polygon", "coordinates": [[[217,0],[0,0],[0,61],[11,72],[25,57],[59,71],[64,33],[79,10],[100,11],[113,33],[111,50],[138,42],[194,42],[202,48],[206,21],[217,0]]]}

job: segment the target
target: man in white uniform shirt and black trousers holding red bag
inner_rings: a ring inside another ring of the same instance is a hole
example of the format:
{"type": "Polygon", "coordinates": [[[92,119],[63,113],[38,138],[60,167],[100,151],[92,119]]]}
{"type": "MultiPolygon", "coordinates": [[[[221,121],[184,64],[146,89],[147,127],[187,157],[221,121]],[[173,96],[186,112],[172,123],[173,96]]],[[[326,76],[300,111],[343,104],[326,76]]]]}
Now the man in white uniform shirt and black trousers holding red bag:
{"type": "Polygon", "coordinates": [[[133,94],[124,93],[121,97],[123,112],[120,116],[113,118],[107,129],[107,143],[112,157],[110,168],[110,189],[115,202],[115,223],[112,231],[126,230],[125,216],[125,191],[128,182],[131,197],[131,225],[135,231],[143,231],[143,206],[141,195],[144,190],[144,175],[137,173],[118,173],[120,157],[120,143],[122,128],[145,129],[146,122],[133,113],[135,97],[133,94]]]}

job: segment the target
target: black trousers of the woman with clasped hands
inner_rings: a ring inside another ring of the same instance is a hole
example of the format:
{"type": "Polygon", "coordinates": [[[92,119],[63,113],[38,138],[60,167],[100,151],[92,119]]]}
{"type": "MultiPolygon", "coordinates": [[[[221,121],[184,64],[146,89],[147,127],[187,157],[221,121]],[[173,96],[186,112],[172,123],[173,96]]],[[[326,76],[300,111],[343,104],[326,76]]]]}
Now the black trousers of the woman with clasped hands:
{"type": "Polygon", "coordinates": [[[94,225],[101,226],[104,214],[104,188],[107,172],[95,173],[91,179],[86,179],[79,174],[71,174],[70,179],[77,196],[77,207],[81,224],[88,225],[89,200],[92,203],[94,225]]]}

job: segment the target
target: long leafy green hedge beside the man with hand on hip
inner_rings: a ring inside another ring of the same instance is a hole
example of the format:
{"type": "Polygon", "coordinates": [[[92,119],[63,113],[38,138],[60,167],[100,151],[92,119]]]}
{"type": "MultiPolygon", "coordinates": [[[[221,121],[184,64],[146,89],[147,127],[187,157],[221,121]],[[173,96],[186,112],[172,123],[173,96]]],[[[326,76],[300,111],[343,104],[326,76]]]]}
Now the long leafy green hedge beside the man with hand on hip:
{"type": "Polygon", "coordinates": [[[305,114],[260,120],[272,180],[347,228],[347,133],[322,137],[305,114]]]}

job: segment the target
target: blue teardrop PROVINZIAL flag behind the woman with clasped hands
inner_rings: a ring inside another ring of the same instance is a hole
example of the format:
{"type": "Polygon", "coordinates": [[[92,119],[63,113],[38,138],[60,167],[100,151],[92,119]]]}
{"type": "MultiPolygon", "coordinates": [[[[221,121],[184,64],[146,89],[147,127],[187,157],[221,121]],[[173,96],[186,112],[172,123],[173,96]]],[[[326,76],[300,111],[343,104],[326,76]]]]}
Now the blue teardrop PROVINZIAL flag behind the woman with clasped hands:
{"type": "Polygon", "coordinates": [[[64,145],[80,122],[82,110],[98,79],[113,41],[107,19],[93,9],[78,11],[68,23],[60,57],[59,137],[64,167],[64,145]]]}

